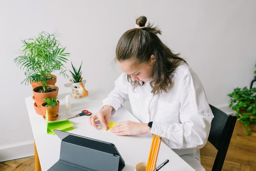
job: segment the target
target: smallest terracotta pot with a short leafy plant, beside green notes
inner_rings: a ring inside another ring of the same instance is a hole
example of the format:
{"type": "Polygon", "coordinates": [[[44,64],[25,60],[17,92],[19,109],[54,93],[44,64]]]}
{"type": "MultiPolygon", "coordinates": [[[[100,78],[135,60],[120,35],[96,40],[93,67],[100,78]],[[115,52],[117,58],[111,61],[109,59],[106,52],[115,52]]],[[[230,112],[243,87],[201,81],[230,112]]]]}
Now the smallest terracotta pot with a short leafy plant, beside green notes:
{"type": "Polygon", "coordinates": [[[58,118],[57,113],[59,110],[59,101],[58,100],[56,101],[54,97],[52,97],[51,99],[46,97],[43,101],[45,101],[41,105],[42,112],[43,112],[43,118],[45,119],[46,110],[47,110],[48,120],[49,121],[56,120],[58,118]]]}

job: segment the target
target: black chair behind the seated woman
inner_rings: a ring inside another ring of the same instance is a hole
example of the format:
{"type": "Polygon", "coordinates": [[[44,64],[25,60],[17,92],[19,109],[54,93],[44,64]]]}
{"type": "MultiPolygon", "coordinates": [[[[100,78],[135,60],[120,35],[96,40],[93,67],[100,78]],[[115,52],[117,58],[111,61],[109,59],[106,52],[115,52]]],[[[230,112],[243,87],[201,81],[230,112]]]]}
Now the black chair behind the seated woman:
{"type": "Polygon", "coordinates": [[[212,120],[208,141],[218,150],[212,171],[221,171],[237,121],[237,116],[227,115],[212,105],[210,105],[210,107],[214,118],[212,120]]]}

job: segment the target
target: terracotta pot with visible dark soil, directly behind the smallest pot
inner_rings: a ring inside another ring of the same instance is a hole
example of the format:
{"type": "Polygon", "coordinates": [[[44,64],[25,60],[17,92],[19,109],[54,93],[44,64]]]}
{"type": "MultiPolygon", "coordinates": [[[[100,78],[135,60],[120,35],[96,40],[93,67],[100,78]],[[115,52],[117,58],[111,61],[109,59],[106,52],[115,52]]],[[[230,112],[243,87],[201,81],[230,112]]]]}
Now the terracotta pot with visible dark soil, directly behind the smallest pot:
{"type": "Polygon", "coordinates": [[[37,103],[37,106],[41,106],[41,104],[44,102],[43,99],[45,99],[46,97],[51,99],[52,97],[55,97],[55,99],[57,99],[57,95],[59,92],[59,87],[54,86],[54,85],[48,85],[48,87],[54,87],[57,90],[52,91],[52,92],[35,92],[34,90],[37,90],[39,88],[41,88],[42,86],[38,86],[33,88],[33,94],[34,94],[34,98],[35,98],[35,102],[37,103]]]}

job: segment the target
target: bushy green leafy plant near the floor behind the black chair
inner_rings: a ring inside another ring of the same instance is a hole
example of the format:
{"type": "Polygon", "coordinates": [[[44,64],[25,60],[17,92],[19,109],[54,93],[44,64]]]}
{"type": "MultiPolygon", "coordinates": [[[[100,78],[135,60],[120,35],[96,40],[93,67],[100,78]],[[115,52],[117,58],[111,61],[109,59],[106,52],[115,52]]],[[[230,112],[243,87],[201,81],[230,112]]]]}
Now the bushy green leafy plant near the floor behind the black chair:
{"type": "Polygon", "coordinates": [[[256,125],[256,88],[248,89],[247,87],[235,88],[233,92],[228,94],[230,99],[229,107],[236,111],[239,122],[244,124],[246,134],[251,133],[250,124],[256,125]]]}

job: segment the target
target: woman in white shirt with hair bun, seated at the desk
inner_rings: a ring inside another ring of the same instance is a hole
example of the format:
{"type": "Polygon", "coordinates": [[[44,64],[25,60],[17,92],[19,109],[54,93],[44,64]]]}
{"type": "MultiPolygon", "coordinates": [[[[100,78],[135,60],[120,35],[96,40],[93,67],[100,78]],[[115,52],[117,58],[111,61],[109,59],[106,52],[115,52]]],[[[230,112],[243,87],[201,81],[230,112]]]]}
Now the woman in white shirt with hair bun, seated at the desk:
{"type": "Polygon", "coordinates": [[[119,39],[116,61],[124,73],[89,123],[97,128],[99,119],[107,129],[111,113],[129,100],[141,123],[120,122],[111,128],[113,133],[156,134],[195,170],[204,170],[199,148],[207,142],[213,114],[203,86],[186,61],[161,42],[161,31],[150,23],[145,27],[146,20],[139,17],[135,28],[119,39]]]}

